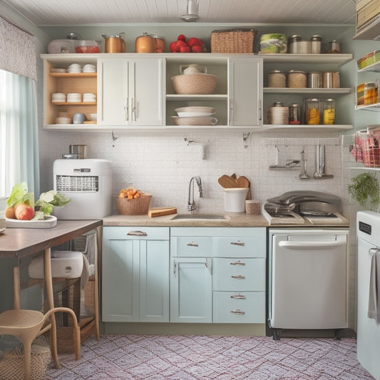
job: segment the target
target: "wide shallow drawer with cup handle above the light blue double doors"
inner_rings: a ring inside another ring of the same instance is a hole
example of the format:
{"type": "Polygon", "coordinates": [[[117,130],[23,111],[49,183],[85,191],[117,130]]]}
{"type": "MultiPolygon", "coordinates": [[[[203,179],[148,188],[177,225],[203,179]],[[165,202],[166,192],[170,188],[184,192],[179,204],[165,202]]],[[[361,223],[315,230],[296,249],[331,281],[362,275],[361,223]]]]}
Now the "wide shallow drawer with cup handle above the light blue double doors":
{"type": "Polygon", "coordinates": [[[103,227],[108,240],[169,240],[169,227],[103,227]]]}

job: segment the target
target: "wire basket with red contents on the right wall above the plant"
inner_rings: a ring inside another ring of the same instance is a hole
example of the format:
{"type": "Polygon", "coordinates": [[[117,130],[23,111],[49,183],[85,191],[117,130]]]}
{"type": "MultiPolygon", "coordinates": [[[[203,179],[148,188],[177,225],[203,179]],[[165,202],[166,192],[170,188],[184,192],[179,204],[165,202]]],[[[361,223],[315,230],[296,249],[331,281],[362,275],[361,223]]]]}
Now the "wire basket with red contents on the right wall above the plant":
{"type": "Polygon", "coordinates": [[[350,152],[366,168],[380,168],[380,127],[369,126],[356,132],[350,152]]]}

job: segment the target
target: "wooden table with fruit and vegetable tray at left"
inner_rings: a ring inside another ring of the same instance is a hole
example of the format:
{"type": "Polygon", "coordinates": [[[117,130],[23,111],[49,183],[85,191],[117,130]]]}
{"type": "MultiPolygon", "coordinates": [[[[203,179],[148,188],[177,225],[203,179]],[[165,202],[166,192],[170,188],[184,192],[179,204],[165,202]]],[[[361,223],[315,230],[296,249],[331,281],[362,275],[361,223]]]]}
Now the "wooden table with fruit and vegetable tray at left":
{"type": "MultiPolygon", "coordinates": [[[[98,252],[101,249],[101,226],[103,220],[58,220],[52,228],[6,228],[0,234],[0,259],[16,258],[18,265],[24,257],[36,255],[43,252],[43,271],[46,286],[46,299],[48,308],[54,307],[53,299],[53,279],[51,277],[51,248],[68,242],[76,237],[97,230],[98,252]]],[[[0,261],[1,265],[1,261],[0,261]]],[[[98,287],[96,273],[96,284],[98,287]]],[[[98,294],[98,292],[96,292],[98,294]]],[[[98,310],[99,300],[95,297],[96,310],[98,310]]],[[[100,339],[99,316],[95,313],[96,337],[100,339]]],[[[56,324],[54,318],[52,324],[56,324]]]]}

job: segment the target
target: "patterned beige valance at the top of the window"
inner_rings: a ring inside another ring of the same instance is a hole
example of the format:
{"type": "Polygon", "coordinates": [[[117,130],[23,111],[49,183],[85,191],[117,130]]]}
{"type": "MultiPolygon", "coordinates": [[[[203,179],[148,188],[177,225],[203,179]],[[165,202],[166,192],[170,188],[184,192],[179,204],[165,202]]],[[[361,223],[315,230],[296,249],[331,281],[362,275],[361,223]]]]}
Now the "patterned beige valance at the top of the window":
{"type": "Polygon", "coordinates": [[[36,81],[34,35],[1,14],[0,68],[36,81]]]}

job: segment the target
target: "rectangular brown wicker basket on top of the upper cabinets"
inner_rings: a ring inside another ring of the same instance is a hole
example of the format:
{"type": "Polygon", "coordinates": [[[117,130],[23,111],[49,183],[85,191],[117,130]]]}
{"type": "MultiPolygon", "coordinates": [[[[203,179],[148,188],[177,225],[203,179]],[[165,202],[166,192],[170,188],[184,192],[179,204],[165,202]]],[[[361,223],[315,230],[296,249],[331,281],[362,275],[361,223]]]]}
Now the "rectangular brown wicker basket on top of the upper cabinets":
{"type": "Polygon", "coordinates": [[[211,32],[211,53],[253,53],[256,29],[224,29],[211,32]]]}

